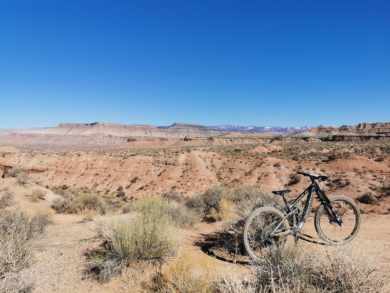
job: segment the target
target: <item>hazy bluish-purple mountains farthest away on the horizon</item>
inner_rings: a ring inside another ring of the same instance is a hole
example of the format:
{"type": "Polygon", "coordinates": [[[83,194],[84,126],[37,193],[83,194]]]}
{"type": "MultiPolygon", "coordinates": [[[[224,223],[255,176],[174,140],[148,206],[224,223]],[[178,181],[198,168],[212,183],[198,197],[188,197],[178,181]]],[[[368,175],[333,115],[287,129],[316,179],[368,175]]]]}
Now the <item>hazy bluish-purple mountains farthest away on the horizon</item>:
{"type": "Polygon", "coordinates": [[[231,126],[231,125],[222,125],[222,126],[207,126],[207,128],[219,130],[219,131],[229,131],[229,132],[252,132],[252,133],[270,133],[270,134],[287,134],[295,133],[300,131],[308,131],[312,127],[309,126],[295,126],[295,127],[276,127],[276,126],[231,126]]]}

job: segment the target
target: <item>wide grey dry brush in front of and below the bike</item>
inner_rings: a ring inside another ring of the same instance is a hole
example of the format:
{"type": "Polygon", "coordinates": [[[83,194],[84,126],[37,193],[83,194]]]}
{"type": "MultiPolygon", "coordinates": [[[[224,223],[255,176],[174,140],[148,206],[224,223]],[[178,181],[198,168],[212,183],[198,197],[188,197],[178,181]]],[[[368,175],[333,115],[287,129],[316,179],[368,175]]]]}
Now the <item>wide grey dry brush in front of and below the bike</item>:
{"type": "Polygon", "coordinates": [[[353,245],[327,247],[322,254],[292,246],[271,247],[254,270],[261,293],[384,293],[389,289],[389,276],[379,271],[371,255],[353,245]]]}

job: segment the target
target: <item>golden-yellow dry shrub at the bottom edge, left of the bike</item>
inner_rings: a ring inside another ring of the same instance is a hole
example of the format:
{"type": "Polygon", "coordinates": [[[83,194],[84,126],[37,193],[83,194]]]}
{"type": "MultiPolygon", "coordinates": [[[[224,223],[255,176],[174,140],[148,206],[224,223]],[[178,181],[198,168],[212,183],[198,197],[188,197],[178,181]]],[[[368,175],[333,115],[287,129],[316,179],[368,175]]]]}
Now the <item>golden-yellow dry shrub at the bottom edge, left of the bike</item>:
{"type": "Polygon", "coordinates": [[[148,292],[217,293],[217,272],[213,258],[185,253],[156,274],[148,292]]]}

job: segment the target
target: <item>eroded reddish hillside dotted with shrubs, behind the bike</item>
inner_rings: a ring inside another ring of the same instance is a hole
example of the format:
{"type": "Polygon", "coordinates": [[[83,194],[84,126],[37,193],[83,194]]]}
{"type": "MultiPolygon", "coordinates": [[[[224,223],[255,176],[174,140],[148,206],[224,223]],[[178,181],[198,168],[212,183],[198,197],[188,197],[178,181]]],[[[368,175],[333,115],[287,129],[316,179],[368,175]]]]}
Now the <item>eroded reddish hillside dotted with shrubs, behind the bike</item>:
{"type": "MultiPolygon", "coordinates": [[[[129,143],[130,144],[130,143],[129,143]]],[[[297,195],[308,182],[297,171],[324,174],[325,190],[353,199],[369,194],[375,204],[366,211],[390,209],[390,143],[274,143],[240,141],[238,145],[193,145],[95,150],[25,150],[2,148],[0,165],[23,167],[42,185],[96,190],[103,198],[122,201],[175,189],[193,196],[214,185],[227,188],[258,185],[267,191],[290,188],[297,195]],[[118,199],[117,190],[125,196],[118,199]]],[[[292,195],[293,196],[293,195],[292,195]]]]}

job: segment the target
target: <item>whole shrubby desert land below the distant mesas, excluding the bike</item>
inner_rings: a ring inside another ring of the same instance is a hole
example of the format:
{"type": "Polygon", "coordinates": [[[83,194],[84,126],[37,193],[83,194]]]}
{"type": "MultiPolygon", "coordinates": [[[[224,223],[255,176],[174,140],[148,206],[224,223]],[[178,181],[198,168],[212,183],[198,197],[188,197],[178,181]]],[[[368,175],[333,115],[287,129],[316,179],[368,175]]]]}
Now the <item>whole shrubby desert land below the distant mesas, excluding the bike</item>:
{"type": "Polygon", "coordinates": [[[390,142],[226,142],[0,147],[0,292],[389,292],[390,142]],[[243,222],[303,191],[297,171],[329,176],[361,228],[325,245],[314,201],[301,247],[253,262],[243,222]]]}

